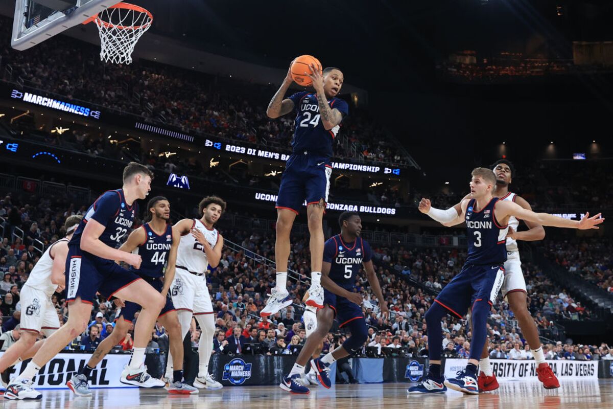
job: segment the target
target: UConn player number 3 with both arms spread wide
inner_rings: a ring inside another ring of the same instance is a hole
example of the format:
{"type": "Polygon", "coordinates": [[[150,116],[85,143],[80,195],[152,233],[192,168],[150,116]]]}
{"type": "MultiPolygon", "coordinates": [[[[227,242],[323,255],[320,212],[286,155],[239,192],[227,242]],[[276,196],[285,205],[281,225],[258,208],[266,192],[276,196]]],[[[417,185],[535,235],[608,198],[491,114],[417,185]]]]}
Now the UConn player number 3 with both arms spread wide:
{"type": "MultiPolygon", "coordinates": [[[[479,393],[477,365],[485,345],[487,316],[503,285],[506,237],[511,216],[541,226],[573,229],[598,229],[597,225],[604,221],[600,213],[591,218],[587,214],[581,221],[574,221],[532,212],[514,202],[501,201],[492,196],[496,185],[496,176],[492,170],[478,167],[471,175],[471,198],[462,201],[461,213],[456,212],[453,220],[445,222],[446,225],[449,223],[454,226],[466,221],[468,256],[460,273],[444,286],[425,314],[430,369],[421,383],[409,388],[409,393],[441,393],[446,392],[447,387],[466,394],[479,393]],[[457,377],[445,380],[441,373],[441,319],[448,312],[462,318],[468,308],[471,308],[473,321],[473,345],[468,365],[457,377]]],[[[419,210],[436,221],[445,220],[446,211],[433,208],[427,199],[422,199],[419,210]]]]}

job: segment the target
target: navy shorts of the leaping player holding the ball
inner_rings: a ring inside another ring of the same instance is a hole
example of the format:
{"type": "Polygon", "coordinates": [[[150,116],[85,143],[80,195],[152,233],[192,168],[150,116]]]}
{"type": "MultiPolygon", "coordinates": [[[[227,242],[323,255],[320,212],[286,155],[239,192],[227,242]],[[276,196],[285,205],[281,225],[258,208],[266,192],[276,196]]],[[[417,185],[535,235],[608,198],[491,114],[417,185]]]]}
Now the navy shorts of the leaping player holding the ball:
{"type": "Polygon", "coordinates": [[[328,202],[332,166],[326,156],[308,152],[294,153],[287,159],[281,177],[281,186],[276,199],[276,208],[287,208],[300,213],[304,202],[307,205],[328,202]]]}

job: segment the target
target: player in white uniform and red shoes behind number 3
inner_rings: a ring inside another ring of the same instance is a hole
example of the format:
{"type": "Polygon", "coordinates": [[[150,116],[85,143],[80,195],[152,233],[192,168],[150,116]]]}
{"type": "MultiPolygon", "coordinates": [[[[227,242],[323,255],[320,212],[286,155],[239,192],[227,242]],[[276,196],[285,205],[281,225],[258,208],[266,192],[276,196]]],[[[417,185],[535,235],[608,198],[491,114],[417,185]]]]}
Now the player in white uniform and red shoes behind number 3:
{"type": "MultiPolygon", "coordinates": [[[[523,208],[532,210],[530,204],[521,196],[509,191],[509,185],[512,178],[516,175],[516,170],[513,164],[506,160],[500,159],[492,165],[492,170],[496,175],[496,186],[493,188],[492,196],[498,197],[501,201],[516,202],[523,208]]],[[[470,199],[470,194],[467,194],[464,199],[470,199]]],[[[461,203],[461,202],[460,202],[461,203]]],[[[454,206],[455,212],[451,212],[454,216],[462,212],[460,203],[454,206]]],[[[525,220],[524,223],[528,226],[526,231],[517,231],[519,220],[515,217],[509,218],[509,233],[506,237],[506,255],[507,261],[504,263],[504,281],[501,288],[503,298],[509,302],[509,307],[517,318],[517,323],[522,330],[522,335],[530,345],[530,351],[536,361],[536,374],[539,381],[543,383],[546,389],[560,388],[558,378],[555,377],[554,371],[549,364],[545,362],[545,355],[541,347],[538,329],[534,319],[528,311],[526,282],[524,273],[522,272],[522,262],[519,258],[519,248],[517,248],[517,240],[534,241],[543,240],[545,237],[545,229],[538,223],[525,220]]],[[[498,389],[498,381],[492,371],[490,365],[490,357],[487,351],[487,339],[483,347],[483,353],[479,360],[479,392],[494,391],[498,389]]]]}

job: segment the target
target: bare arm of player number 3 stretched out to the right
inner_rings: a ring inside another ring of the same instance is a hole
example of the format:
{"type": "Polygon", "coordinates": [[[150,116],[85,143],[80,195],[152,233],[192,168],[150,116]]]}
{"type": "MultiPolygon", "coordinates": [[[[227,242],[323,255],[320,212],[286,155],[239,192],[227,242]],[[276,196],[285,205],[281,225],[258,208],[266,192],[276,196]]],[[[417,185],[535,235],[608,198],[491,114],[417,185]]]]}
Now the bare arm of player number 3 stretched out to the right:
{"type": "Polygon", "coordinates": [[[550,215],[549,213],[535,213],[532,210],[525,209],[513,202],[500,202],[496,207],[496,218],[502,220],[507,216],[516,216],[518,219],[532,221],[533,223],[541,224],[542,226],[565,227],[567,229],[598,229],[598,224],[604,222],[601,213],[590,217],[590,213],[586,213],[581,221],[568,220],[562,217],[550,215]],[[500,211],[500,217],[498,216],[500,211]]]}

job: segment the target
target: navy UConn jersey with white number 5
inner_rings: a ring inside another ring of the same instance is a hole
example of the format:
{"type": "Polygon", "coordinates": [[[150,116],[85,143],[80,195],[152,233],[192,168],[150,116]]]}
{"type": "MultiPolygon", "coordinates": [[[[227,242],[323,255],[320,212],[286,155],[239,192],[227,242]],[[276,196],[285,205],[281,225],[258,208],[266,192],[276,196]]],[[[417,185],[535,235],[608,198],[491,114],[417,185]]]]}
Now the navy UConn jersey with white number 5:
{"type": "Polygon", "coordinates": [[[353,243],[344,243],[341,235],[337,234],[326,240],[324,245],[324,261],[332,264],[329,277],[345,289],[356,286],[362,263],[370,261],[372,255],[370,245],[361,237],[353,243]]]}

